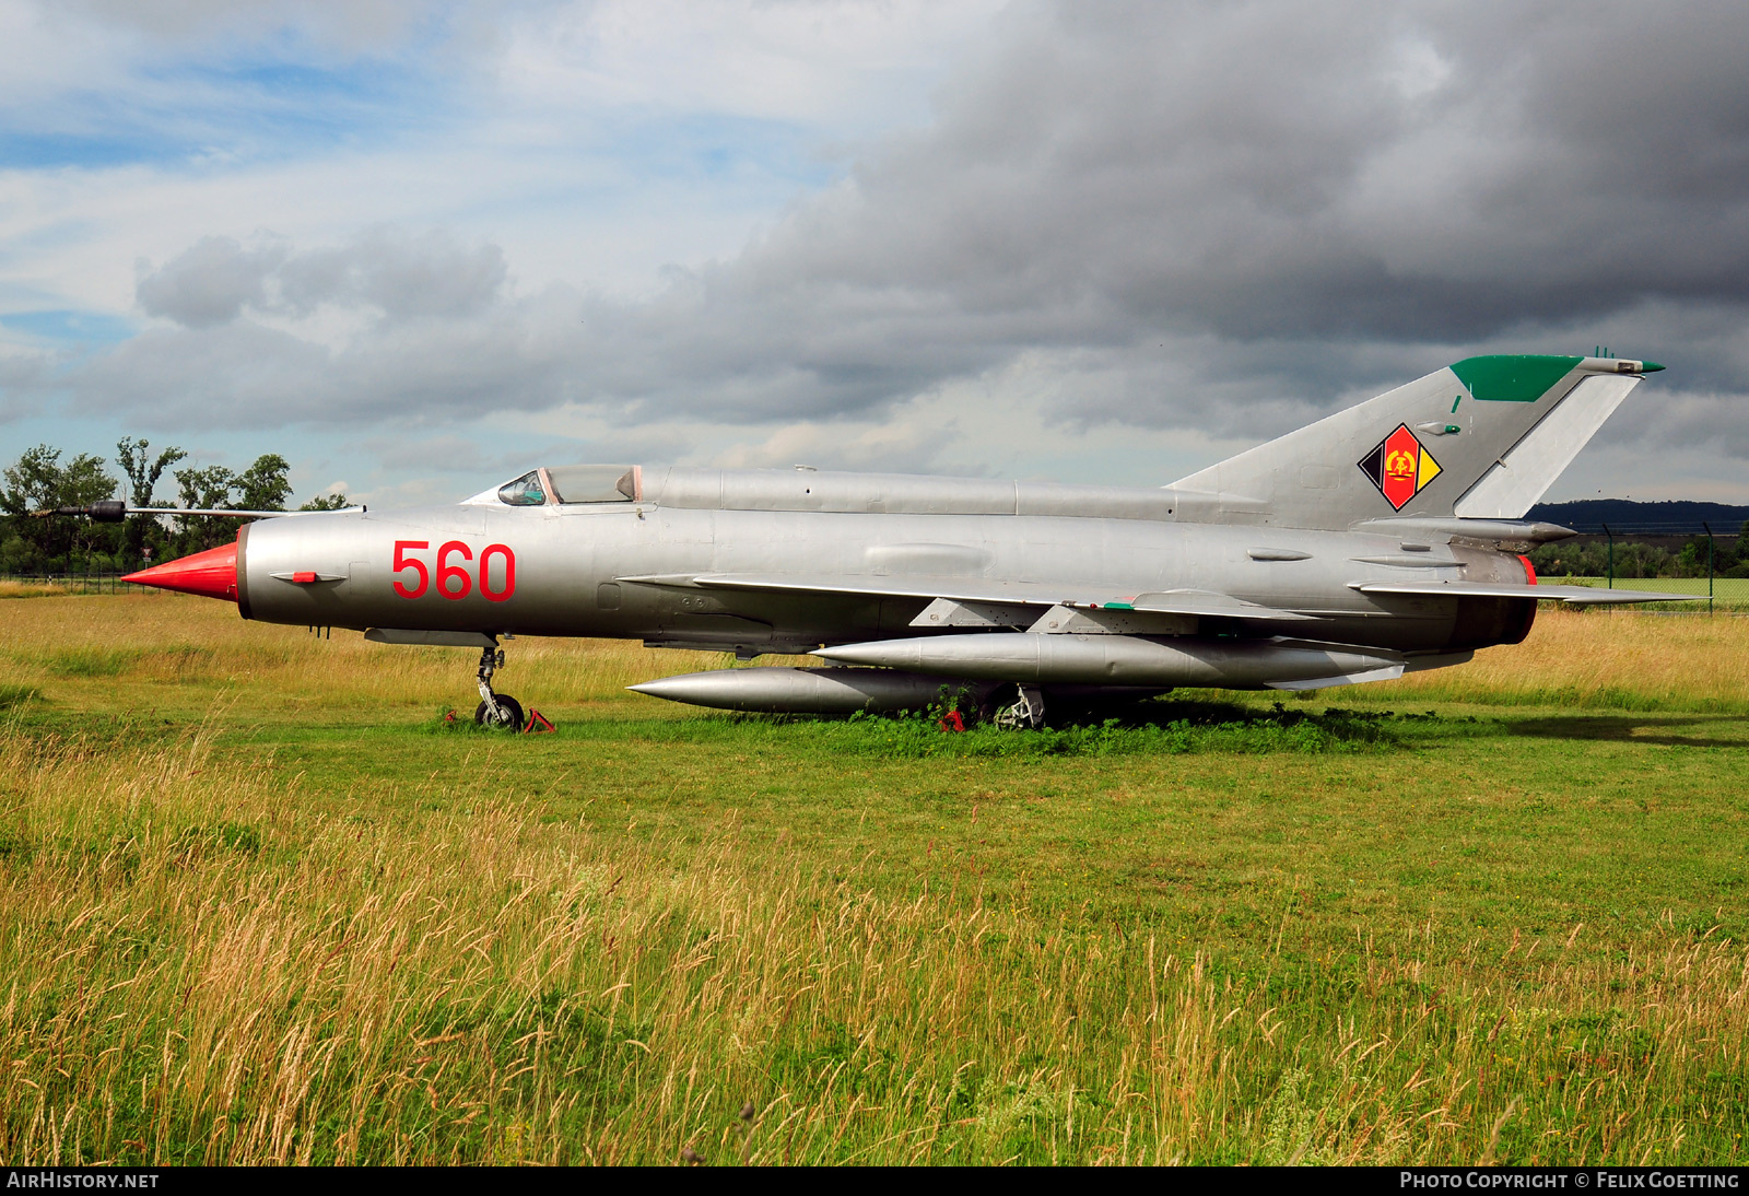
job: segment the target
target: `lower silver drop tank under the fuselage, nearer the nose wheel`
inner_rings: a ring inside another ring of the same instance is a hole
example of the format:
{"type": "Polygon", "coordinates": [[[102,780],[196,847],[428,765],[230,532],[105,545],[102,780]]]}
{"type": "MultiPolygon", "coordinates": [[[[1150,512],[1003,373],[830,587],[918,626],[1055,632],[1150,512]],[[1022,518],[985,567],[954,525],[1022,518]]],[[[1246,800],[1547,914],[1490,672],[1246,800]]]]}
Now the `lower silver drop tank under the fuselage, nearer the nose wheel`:
{"type": "Polygon", "coordinates": [[[721,668],[630,685],[633,692],[749,713],[887,713],[922,710],[986,685],[888,668],[721,668]]]}

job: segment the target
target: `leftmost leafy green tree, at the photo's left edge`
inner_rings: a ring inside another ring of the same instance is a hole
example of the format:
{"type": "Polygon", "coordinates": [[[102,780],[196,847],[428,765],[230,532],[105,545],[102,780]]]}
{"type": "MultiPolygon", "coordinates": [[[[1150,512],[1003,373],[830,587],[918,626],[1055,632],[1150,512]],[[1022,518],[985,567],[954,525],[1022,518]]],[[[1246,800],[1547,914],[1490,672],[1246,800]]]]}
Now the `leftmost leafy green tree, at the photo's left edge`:
{"type": "Polygon", "coordinates": [[[103,458],[80,453],[61,465],[61,449],[38,444],[5,470],[0,507],[10,525],[5,537],[9,570],[108,568],[117,547],[117,530],[89,519],[37,519],[35,511],[82,507],[115,493],[115,479],[103,472],[103,458]],[[16,540],[16,544],[14,544],[16,540]],[[103,560],[94,560],[103,556],[103,560]]]}

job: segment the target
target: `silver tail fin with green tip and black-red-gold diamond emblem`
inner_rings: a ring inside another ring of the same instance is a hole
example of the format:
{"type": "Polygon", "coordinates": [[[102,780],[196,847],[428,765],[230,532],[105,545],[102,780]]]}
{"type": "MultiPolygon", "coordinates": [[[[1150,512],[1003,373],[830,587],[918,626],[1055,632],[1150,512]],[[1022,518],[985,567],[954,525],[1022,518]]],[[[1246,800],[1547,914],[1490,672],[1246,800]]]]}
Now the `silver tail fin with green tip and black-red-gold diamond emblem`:
{"type": "Polygon", "coordinates": [[[1471,357],[1191,474],[1179,518],[1343,530],[1516,519],[1656,362],[1471,357]]]}

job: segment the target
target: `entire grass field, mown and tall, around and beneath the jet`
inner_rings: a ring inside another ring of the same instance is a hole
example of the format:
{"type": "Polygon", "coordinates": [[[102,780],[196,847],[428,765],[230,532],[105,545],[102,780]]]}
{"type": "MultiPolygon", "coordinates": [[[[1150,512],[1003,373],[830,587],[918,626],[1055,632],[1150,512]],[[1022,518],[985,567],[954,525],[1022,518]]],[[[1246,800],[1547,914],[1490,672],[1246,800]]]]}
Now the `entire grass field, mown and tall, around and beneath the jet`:
{"type": "Polygon", "coordinates": [[[1042,733],[0,601],[0,1163],[1742,1163],[1749,621],[1042,733]]]}

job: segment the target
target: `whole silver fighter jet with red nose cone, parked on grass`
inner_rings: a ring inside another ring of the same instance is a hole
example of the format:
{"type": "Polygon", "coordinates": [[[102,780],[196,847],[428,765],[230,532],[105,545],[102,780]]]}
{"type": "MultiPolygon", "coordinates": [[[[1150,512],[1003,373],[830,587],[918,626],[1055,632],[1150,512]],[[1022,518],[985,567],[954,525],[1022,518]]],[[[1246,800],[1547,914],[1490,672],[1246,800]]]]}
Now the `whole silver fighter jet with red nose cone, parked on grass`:
{"type": "Polygon", "coordinates": [[[1021,726],[1056,699],[1383,680],[1522,642],[1539,600],[1669,600],[1537,586],[1522,556],[1572,535],[1523,514],[1656,369],[1471,357],[1163,488],[551,465],[446,507],[248,523],[126,581],[476,647],[476,717],[509,727],[523,710],[491,678],[525,635],[826,664],[633,685],[673,701],[843,713],[957,692],[1021,726]]]}

